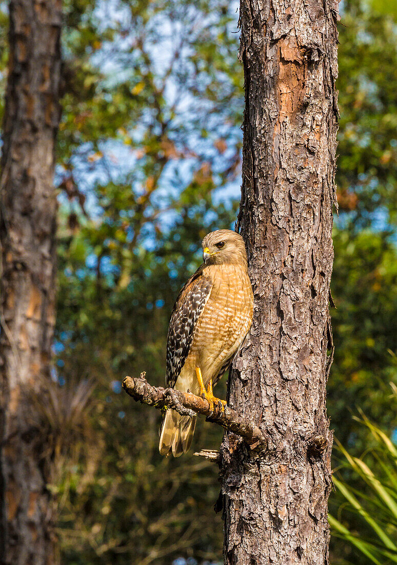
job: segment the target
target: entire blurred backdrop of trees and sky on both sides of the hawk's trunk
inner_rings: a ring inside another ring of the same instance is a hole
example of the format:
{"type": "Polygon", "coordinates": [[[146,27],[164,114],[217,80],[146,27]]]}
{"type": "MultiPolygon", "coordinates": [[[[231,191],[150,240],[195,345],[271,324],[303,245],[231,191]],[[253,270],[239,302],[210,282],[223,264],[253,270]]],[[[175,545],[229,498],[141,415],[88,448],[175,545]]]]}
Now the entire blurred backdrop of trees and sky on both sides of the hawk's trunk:
{"type": "MultiPolygon", "coordinates": [[[[354,456],[374,445],[352,418],[358,406],[390,434],[396,428],[397,14],[385,6],[347,0],[339,26],[328,410],[354,456]]],[[[54,390],[42,413],[62,454],[49,488],[63,563],[221,558],[216,469],[192,453],[161,458],[160,416],[121,394],[121,380],[147,371],[163,383],[174,299],[200,263],[201,238],[236,217],[237,8],[227,0],[64,2],[54,390]]],[[[0,113],[7,25],[0,3],[0,113]]],[[[202,422],[193,447],[219,445],[213,428],[202,422]]],[[[337,496],[331,502],[336,515],[337,496]]],[[[354,514],[342,523],[358,526],[354,514]]],[[[333,563],[368,559],[341,540],[332,551],[333,563]]]]}

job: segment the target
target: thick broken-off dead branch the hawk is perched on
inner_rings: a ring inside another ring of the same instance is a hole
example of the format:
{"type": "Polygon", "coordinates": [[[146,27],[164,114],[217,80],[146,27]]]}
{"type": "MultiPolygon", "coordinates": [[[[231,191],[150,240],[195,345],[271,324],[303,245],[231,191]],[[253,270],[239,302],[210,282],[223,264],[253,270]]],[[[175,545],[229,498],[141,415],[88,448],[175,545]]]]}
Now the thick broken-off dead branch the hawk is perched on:
{"type": "Polygon", "coordinates": [[[206,416],[206,420],[242,437],[250,449],[255,451],[266,449],[267,438],[258,426],[237,414],[232,408],[227,406],[224,411],[219,408],[211,410],[209,402],[195,394],[150,385],[145,379],[145,374],[141,373],[140,377],[125,377],[123,380],[123,389],[135,401],[153,406],[158,410],[173,408],[179,414],[187,416],[202,414],[206,416]]]}

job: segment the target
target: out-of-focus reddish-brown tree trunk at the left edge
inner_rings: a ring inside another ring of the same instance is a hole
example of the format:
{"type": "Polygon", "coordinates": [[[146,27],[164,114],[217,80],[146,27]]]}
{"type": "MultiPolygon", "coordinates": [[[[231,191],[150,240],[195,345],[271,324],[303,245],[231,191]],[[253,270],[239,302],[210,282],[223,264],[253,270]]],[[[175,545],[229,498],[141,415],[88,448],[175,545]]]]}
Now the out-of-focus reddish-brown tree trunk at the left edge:
{"type": "Polygon", "coordinates": [[[12,565],[56,562],[32,396],[50,379],[55,321],[60,29],[60,0],[10,1],[0,176],[0,561],[12,565]]]}

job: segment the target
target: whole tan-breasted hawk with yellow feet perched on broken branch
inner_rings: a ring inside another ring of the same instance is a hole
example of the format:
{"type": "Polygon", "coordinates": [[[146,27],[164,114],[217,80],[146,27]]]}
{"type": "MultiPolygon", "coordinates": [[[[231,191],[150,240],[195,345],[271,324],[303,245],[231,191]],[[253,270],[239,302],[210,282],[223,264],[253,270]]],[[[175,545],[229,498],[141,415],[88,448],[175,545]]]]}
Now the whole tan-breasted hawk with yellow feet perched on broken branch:
{"type": "MultiPolygon", "coordinates": [[[[242,237],[218,229],[202,240],[204,263],[175,302],[167,336],[166,386],[226,402],[213,386],[227,371],[252,323],[253,293],[242,237]]],[[[160,453],[179,457],[191,446],[196,418],[168,409],[160,431],[160,453]]]]}

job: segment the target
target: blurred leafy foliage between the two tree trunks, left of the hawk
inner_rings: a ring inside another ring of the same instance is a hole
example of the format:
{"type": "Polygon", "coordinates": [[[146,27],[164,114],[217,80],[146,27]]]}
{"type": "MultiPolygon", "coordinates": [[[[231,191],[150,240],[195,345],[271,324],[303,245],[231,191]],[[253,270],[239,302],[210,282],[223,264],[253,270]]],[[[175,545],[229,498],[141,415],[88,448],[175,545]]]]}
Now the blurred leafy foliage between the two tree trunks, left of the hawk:
{"type": "MultiPolygon", "coordinates": [[[[106,7],[77,8],[67,20],[73,29],[65,29],[55,349],[61,383],[86,376],[95,383],[95,445],[54,485],[63,559],[203,562],[222,548],[216,470],[192,453],[161,458],[160,413],[135,406],[120,384],[142,370],[164,383],[174,299],[200,263],[202,237],[236,216],[236,203],[217,194],[235,182],[240,161],[233,111],[242,90],[236,97],[236,84],[229,86],[237,60],[225,31],[232,16],[225,2],[217,18],[213,3],[119,3],[94,38],[83,14],[92,8],[88,21],[103,18],[106,7]],[[183,33],[170,43],[174,29],[183,33]],[[172,48],[164,68],[156,44],[172,48]]],[[[216,447],[221,437],[200,421],[195,445],[216,447]]]]}

